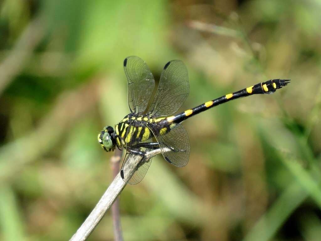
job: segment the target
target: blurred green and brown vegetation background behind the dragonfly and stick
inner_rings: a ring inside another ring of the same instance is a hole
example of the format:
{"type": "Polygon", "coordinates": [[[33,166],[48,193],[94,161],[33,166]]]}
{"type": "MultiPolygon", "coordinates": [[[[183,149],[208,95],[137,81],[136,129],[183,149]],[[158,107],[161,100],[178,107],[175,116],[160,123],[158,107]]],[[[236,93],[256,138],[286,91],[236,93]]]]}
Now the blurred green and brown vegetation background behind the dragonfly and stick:
{"type": "MultiPolygon", "coordinates": [[[[97,133],[129,112],[123,60],[185,62],[184,123],[120,198],[125,240],[321,239],[321,1],[0,1],[0,240],[68,240],[112,180],[97,133]]],[[[89,240],[113,240],[110,212],[89,240]]]]}

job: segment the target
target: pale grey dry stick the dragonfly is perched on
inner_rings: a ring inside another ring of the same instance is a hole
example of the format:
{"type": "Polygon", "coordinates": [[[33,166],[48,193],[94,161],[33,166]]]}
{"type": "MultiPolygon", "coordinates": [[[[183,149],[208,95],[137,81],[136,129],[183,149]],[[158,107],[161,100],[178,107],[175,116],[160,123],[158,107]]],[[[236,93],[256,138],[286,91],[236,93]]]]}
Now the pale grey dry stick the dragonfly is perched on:
{"type": "MultiPolygon", "coordinates": [[[[169,152],[169,148],[162,149],[165,152],[169,152]]],[[[148,160],[149,158],[156,156],[161,153],[160,148],[151,150],[146,152],[145,159],[148,160]]],[[[134,156],[132,170],[129,172],[129,178],[134,174],[135,167],[141,161],[142,156],[134,156]]],[[[107,188],[106,192],[100,198],[99,202],[97,203],[96,207],[91,211],[87,219],[82,223],[80,228],[76,231],[73,237],[69,241],[78,241],[78,240],[86,240],[91,232],[96,228],[99,224],[100,220],[104,217],[105,213],[109,210],[113,202],[116,200],[118,195],[121,193],[123,188],[126,186],[126,183],[120,176],[120,173],[117,174],[115,179],[107,188]]]]}

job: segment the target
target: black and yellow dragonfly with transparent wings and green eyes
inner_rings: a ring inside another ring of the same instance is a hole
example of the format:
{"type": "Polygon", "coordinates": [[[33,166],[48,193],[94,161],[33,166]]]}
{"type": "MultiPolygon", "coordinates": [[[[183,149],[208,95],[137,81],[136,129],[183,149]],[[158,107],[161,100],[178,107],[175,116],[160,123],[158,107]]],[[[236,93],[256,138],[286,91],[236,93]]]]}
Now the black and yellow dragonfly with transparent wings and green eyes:
{"type": "Polygon", "coordinates": [[[231,100],[253,94],[272,94],[290,83],[289,79],[268,80],[175,114],[189,94],[187,67],[181,60],[172,60],[165,65],[154,96],[155,80],[145,61],[137,56],[125,58],[124,70],[130,113],[115,125],[115,129],[104,127],[98,134],[98,142],[107,152],[115,147],[126,149],[120,175],[129,184],[139,183],[145,176],[152,162],[152,157],[144,158],[149,150],[160,148],[170,164],[178,167],[187,165],[190,143],[181,124],[183,121],[231,100]],[[142,158],[133,172],[137,155],[142,158]]]}

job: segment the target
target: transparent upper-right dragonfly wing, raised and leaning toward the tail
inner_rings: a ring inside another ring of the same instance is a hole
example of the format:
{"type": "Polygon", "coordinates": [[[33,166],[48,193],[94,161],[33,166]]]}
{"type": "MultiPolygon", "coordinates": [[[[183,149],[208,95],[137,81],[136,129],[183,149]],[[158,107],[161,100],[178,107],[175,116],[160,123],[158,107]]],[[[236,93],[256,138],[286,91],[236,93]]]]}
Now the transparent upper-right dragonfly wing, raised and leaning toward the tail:
{"type": "Polygon", "coordinates": [[[180,60],[169,61],[161,74],[160,84],[149,114],[168,116],[176,113],[189,94],[188,74],[180,60]]]}

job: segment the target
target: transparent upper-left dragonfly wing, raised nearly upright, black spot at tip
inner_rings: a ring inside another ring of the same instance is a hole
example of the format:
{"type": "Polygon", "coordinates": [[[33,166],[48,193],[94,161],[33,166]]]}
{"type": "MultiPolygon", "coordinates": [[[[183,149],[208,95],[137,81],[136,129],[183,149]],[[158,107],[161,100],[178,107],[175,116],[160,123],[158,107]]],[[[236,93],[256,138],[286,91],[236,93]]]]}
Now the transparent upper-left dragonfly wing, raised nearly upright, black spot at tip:
{"type": "Polygon", "coordinates": [[[145,61],[137,56],[125,58],[124,70],[128,80],[129,109],[132,113],[144,112],[154,90],[154,77],[145,61]]]}

